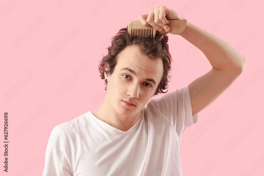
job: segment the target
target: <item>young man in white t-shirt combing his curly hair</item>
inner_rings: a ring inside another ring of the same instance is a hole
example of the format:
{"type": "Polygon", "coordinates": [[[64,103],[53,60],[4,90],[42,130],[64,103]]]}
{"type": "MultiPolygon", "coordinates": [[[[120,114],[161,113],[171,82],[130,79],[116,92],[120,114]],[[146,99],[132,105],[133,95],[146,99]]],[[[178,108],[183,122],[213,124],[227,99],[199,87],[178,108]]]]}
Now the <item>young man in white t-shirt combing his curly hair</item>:
{"type": "MultiPolygon", "coordinates": [[[[185,18],[164,6],[139,17],[143,25],[159,31],[167,29],[167,19],[185,18]]],[[[55,126],[46,150],[44,176],[182,175],[182,132],[242,73],[246,59],[187,21],[179,35],[192,44],[203,39],[197,47],[212,69],[187,87],[150,99],[165,93],[168,85],[171,55],[164,34],[159,32],[155,40],[130,40],[123,28],[114,36],[99,68],[107,85],[104,102],[93,113],[55,126]],[[227,60],[230,53],[233,56],[227,60]],[[204,86],[197,89],[201,82],[204,86]]]]}

